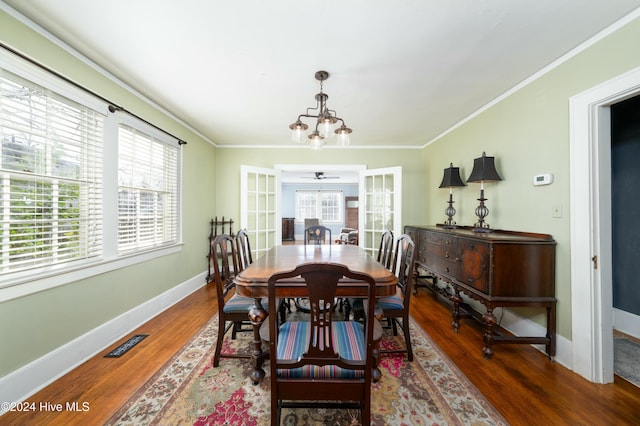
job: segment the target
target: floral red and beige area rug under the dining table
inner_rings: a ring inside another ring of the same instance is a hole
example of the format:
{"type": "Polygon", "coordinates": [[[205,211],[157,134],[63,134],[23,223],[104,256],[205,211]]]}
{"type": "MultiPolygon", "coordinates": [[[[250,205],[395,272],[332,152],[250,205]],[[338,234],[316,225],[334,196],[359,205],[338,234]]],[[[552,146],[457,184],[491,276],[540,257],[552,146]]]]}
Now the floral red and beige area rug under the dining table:
{"type": "MultiPolygon", "coordinates": [[[[107,425],[268,425],[269,366],[254,385],[247,360],[225,359],[212,367],[217,335],[212,318],[161,368],[107,425]]],[[[373,425],[506,425],[431,338],[411,320],[414,361],[383,356],[382,379],[372,385],[373,425]]],[[[225,338],[223,352],[250,351],[252,333],[225,338]]],[[[381,349],[404,346],[385,332],[381,349]]],[[[358,425],[358,410],[284,409],[284,425],[358,425]]]]}

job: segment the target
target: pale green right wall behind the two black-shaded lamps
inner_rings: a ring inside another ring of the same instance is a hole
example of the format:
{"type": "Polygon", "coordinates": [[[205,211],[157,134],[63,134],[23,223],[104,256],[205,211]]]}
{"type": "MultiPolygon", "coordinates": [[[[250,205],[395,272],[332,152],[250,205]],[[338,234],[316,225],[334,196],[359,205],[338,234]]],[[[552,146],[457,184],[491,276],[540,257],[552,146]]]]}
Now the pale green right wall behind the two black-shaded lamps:
{"type": "MultiPolygon", "coordinates": [[[[569,99],[640,66],[640,20],[635,20],[425,148],[427,188],[436,188],[442,169],[453,162],[464,180],[473,159],[486,151],[496,157],[502,181],[485,184],[497,229],[542,232],[557,241],[558,333],[571,338],[569,99]],[[548,186],[533,176],[553,173],[548,186]],[[552,208],[562,217],[552,217],[552,208]]],[[[586,143],[586,141],[585,141],[586,143]]],[[[427,218],[440,221],[448,191],[427,191],[427,218]]],[[[454,190],[457,221],[473,225],[480,185],[454,190]]],[[[525,312],[525,311],[521,311],[525,312]]],[[[536,320],[541,321],[540,316],[536,320]]],[[[542,322],[544,323],[544,322],[542,322]]]]}

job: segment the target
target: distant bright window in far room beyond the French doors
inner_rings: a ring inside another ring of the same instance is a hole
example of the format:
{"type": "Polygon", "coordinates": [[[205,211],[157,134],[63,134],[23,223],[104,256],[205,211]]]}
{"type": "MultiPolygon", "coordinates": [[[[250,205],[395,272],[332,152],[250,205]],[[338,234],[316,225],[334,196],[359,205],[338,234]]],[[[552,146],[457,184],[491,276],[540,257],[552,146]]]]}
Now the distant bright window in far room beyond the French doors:
{"type": "Polygon", "coordinates": [[[342,223],[342,191],[296,191],[296,220],[319,218],[322,223],[342,223]]]}

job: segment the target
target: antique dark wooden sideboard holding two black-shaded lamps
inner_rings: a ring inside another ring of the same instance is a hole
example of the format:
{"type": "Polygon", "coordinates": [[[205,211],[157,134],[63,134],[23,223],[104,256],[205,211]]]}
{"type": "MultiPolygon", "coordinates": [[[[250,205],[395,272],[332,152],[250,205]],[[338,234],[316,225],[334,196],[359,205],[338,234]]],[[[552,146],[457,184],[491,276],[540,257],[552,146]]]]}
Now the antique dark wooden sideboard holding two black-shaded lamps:
{"type": "Polygon", "coordinates": [[[471,227],[405,226],[416,243],[416,266],[453,290],[452,326],[460,327],[461,293],[481,302],[485,358],[496,343],[544,344],[549,358],[556,353],[555,247],[550,235],[494,230],[474,232],[471,227]],[[544,337],[498,332],[496,307],[544,307],[544,337]]]}

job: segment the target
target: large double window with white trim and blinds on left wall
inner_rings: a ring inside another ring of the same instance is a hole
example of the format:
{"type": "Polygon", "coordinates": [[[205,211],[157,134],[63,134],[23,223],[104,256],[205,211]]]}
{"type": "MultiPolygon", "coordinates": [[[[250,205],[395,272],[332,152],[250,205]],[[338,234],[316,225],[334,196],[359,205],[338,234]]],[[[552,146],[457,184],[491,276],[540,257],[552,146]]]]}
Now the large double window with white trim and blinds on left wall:
{"type": "Polygon", "coordinates": [[[108,106],[0,51],[0,302],[180,249],[178,141],[108,106]]]}

